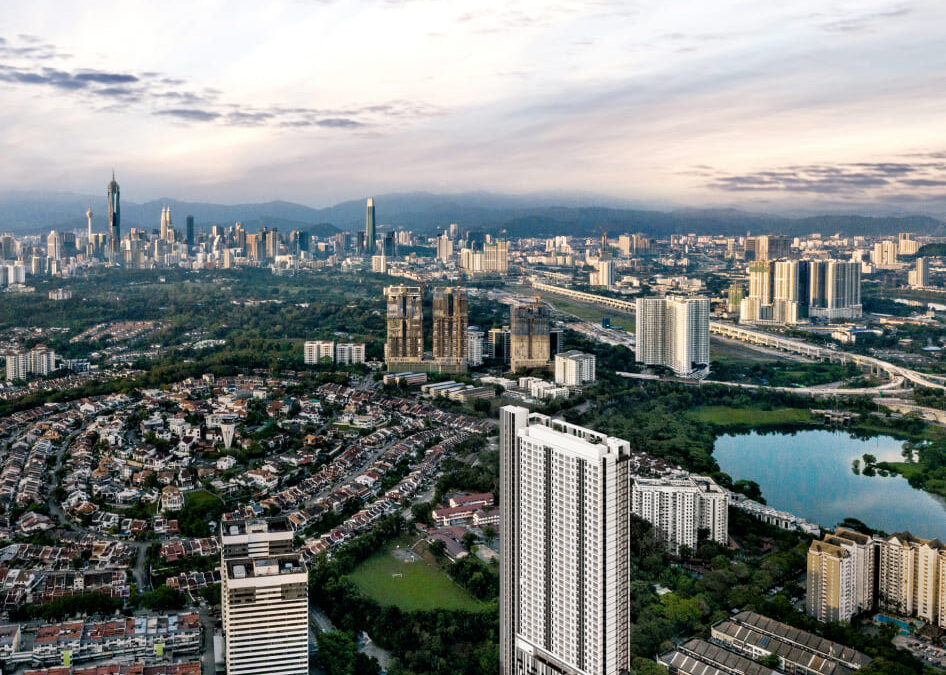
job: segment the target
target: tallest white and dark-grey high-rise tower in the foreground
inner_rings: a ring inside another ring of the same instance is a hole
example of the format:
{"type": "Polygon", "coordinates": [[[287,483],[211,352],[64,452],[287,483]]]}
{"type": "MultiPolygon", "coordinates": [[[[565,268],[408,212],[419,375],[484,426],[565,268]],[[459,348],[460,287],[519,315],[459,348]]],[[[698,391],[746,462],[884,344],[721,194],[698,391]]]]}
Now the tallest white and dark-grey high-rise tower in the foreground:
{"type": "Polygon", "coordinates": [[[500,669],[619,675],[629,664],[627,441],[500,410],[500,669]]]}

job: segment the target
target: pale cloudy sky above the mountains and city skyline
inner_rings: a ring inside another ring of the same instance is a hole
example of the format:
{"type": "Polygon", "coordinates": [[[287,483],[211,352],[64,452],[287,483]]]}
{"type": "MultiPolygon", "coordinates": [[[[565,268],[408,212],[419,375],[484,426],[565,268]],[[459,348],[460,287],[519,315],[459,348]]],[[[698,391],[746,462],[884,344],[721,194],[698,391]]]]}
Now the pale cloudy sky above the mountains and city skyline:
{"type": "Polygon", "coordinates": [[[946,212],[942,0],[4,0],[0,190],[946,212]]]}

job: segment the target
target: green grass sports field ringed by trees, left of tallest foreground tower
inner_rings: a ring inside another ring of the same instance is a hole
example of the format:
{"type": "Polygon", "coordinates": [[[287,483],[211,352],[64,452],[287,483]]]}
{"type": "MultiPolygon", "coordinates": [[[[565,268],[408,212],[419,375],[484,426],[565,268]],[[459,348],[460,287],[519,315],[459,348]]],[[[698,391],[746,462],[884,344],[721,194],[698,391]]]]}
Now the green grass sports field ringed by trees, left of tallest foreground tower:
{"type": "MultiPolygon", "coordinates": [[[[404,546],[404,540],[398,543],[404,546]]],[[[402,562],[392,554],[393,546],[373,555],[348,578],[365,595],[381,605],[396,605],[405,611],[459,609],[476,611],[485,604],[453,583],[441,569],[418,556],[402,562]],[[392,576],[400,574],[401,576],[392,576]]]]}

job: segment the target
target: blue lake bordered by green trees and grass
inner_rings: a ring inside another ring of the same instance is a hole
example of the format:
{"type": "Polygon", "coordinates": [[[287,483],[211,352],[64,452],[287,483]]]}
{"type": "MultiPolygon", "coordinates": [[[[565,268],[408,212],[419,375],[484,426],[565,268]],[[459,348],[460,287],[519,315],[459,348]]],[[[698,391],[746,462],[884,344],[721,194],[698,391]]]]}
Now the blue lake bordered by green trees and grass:
{"type": "MultiPolygon", "coordinates": [[[[946,500],[916,490],[900,476],[856,475],[854,459],[903,461],[902,441],[853,438],[841,431],[742,434],[716,439],[713,456],[733,480],[753,480],[766,502],[833,527],[847,517],[888,533],[946,539],[946,500]]],[[[863,469],[864,462],[861,461],[863,469]]]]}

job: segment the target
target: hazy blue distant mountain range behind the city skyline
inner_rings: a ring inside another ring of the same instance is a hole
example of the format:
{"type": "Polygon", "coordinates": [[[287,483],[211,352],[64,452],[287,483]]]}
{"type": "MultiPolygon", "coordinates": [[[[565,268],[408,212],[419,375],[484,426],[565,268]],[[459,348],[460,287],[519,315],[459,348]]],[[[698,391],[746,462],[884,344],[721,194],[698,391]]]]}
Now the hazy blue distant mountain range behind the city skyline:
{"type": "MultiPolygon", "coordinates": [[[[946,235],[946,223],[929,216],[818,215],[798,218],[750,213],[736,209],[647,210],[633,202],[594,195],[535,194],[523,196],[485,192],[438,195],[425,192],[380,195],[374,198],[379,229],[385,226],[418,232],[436,232],[457,223],[463,228],[510,237],[600,235],[604,232],[644,232],[651,236],[672,233],[736,235],[779,232],[804,235],[894,235],[914,232],[946,235]],[[595,204],[595,205],[592,205],[595,204]]],[[[0,193],[0,231],[23,234],[51,229],[85,228],[89,203],[95,212],[93,228],[104,231],[104,198],[70,193],[0,193]]],[[[193,215],[198,228],[240,221],[249,231],[260,225],[280,230],[307,230],[328,235],[359,230],[365,224],[365,203],[348,201],[322,209],[292,202],[261,204],[208,204],[159,199],[144,204],[122,201],[122,229],[157,228],[161,209],[171,207],[174,225],[183,227],[193,215]]]]}

